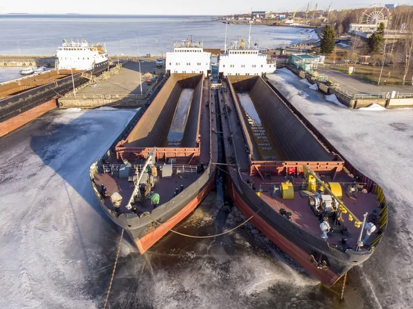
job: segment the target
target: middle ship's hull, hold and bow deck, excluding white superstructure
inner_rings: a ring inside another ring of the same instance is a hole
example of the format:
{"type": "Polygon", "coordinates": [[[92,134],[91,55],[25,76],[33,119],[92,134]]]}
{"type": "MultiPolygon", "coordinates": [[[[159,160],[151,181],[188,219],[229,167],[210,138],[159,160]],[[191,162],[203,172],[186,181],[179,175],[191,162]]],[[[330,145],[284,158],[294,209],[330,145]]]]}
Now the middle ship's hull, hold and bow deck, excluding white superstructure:
{"type": "Polygon", "coordinates": [[[141,254],[187,217],[215,183],[210,98],[204,74],[171,74],[130,133],[90,168],[100,205],[141,254]]]}

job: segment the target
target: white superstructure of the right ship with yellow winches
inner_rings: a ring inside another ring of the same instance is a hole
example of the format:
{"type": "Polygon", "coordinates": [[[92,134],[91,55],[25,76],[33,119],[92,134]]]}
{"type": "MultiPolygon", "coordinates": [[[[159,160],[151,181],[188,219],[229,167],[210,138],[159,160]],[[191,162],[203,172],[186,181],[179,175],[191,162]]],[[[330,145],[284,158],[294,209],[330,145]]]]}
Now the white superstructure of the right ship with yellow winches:
{"type": "Polygon", "coordinates": [[[275,71],[275,61],[268,61],[266,54],[259,50],[244,47],[237,43],[230,45],[225,54],[220,56],[219,72],[224,75],[262,75],[275,71]]]}

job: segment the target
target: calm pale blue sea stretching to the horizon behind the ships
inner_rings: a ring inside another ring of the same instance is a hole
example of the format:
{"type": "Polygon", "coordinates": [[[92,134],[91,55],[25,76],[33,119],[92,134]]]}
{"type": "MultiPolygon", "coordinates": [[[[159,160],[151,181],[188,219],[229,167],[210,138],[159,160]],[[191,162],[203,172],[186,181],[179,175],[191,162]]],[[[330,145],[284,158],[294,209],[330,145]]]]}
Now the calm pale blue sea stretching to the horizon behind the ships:
{"type": "MultiPolygon", "coordinates": [[[[247,39],[248,25],[229,25],[228,42],[247,39]]],[[[225,24],[211,17],[0,15],[0,54],[55,54],[63,38],[105,41],[109,54],[162,54],[192,35],[204,47],[224,47],[225,24]]],[[[301,28],[253,25],[251,43],[263,48],[297,43],[301,28]]]]}

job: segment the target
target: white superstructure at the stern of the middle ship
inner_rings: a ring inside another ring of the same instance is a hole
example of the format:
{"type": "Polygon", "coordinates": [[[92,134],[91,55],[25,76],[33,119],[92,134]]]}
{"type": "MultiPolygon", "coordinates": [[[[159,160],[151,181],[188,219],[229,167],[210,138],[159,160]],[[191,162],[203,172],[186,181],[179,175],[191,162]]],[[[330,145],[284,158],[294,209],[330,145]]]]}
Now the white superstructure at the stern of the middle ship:
{"type": "Polygon", "coordinates": [[[167,72],[202,73],[207,76],[211,71],[211,53],[204,52],[202,43],[192,43],[191,39],[177,42],[173,52],[167,52],[167,72]]]}

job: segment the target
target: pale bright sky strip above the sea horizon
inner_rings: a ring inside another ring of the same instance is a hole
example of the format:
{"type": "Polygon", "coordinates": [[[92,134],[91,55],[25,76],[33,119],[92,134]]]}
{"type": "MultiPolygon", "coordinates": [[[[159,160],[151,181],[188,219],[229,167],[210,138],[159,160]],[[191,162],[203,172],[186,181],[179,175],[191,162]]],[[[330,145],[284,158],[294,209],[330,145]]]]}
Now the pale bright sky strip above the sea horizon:
{"type": "MultiPolygon", "coordinates": [[[[196,0],[157,0],[157,1],[136,1],[109,0],[100,1],[56,1],[56,0],[20,0],[17,7],[13,1],[0,1],[0,14],[7,13],[31,13],[31,14],[176,14],[176,15],[226,15],[240,14],[241,12],[251,12],[251,10],[269,10],[273,12],[306,10],[310,3],[310,8],[314,8],[318,3],[319,10],[328,8],[362,8],[376,3],[374,0],[357,1],[331,1],[313,0],[300,1],[290,0],[288,3],[273,0],[226,0],[219,2],[196,1],[196,0]],[[34,5],[35,3],[35,5],[34,5]],[[59,4],[58,4],[59,3],[59,4]],[[61,3],[65,3],[64,5],[61,3]],[[116,4],[115,4],[116,3],[116,4]]],[[[386,3],[394,3],[385,1],[386,3]]],[[[402,4],[402,3],[399,3],[402,4]]],[[[413,0],[407,0],[403,4],[413,5],[413,0]]]]}

